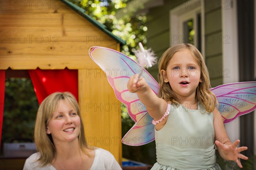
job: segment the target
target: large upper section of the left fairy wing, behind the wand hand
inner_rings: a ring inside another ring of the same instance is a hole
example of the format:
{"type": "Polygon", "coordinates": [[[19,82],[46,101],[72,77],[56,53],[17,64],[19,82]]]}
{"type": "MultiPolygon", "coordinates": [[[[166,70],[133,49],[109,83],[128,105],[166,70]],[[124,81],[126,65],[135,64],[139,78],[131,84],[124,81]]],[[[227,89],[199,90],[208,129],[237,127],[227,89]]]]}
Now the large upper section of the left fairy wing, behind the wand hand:
{"type": "Polygon", "coordinates": [[[91,47],[89,54],[93,61],[105,72],[116,98],[127,106],[129,116],[137,122],[147,111],[137,94],[128,91],[127,82],[129,78],[143,71],[141,77],[145,78],[155,94],[159,91],[158,83],[142,66],[118,51],[105,47],[91,47]]]}

